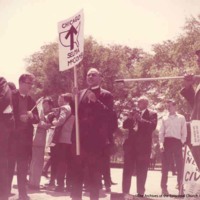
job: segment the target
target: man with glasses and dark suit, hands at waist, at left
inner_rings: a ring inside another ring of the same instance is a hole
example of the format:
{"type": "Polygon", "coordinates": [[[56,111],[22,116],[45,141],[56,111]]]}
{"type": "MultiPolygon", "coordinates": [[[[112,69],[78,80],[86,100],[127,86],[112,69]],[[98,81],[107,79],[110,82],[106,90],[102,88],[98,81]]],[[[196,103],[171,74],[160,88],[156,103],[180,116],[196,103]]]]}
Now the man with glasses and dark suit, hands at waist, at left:
{"type": "Polygon", "coordinates": [[[32,151],[33,124],[39,122],[37,108],[32,110],[35,102],[29,96],[33,83],[34,76],[32,74],[22,74],[19,77],[19,90],[14,91],[12,94],[16,124],[14,132],[14,145],[16,145],[15,160],[17,162],[17,183],[20,200],[29,199],[26,190],[26,176],[32,151]]]}

